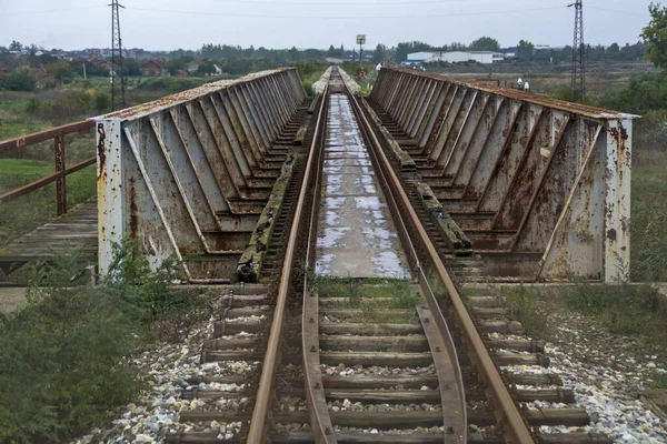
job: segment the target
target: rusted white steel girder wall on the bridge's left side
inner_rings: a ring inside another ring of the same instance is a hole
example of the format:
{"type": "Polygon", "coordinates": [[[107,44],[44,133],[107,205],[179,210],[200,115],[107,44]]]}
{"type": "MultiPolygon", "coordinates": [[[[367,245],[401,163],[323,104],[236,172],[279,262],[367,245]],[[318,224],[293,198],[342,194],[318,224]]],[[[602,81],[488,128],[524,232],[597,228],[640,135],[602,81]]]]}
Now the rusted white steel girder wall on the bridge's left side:
{"type": "Polygon", "coordinates": [[[229,281],[215,260],[240,256],[236,231],[266,204],[253,169],[303,98],[296,70],[279,69],[94,118],[101,273],[127,233],[153,269],[173,256],[192,282],[229,281]]]}

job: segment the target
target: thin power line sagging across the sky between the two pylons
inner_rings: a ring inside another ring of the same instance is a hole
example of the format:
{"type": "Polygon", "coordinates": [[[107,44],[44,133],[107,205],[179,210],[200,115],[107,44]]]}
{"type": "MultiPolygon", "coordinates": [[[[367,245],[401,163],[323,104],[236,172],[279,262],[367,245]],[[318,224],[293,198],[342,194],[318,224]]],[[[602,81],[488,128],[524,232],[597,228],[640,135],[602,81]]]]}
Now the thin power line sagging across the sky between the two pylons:
{"type": "MultiPolygon", "coordinates": [[[[279,6],[279,3],[276,3],[279,6]]],[[[536,12],[536,11],[549,11],[556,9],[563,9],[564,6],[559,7],[547,7],[547,8],[529,8],[529,9],[515,9],[505,11],[475,11],[475,12],[450,12],[441,14],[400,14],[400,16],[276,16],[276,14],[252,14],[252,13],[238,13],[238,12],[201,12],[201,11],[182,11],[182,10],[170,10],[170,9],[158,9],[158,8],[138,8],[132,7],[135,11],[148,11],[148,12],[168,12],[179,13],[189,16],[208,16],[208,17],[233,17],[233,18],[251,18],[251,19],[323,19],[323,20],[382,20],[382,19],[428,19],[428,18],[449,18],[449,17],[468,17],[468,16],[496,16],[496,14],[509,14],[509,13],[524,13],[524,12],[536,12]]]]}

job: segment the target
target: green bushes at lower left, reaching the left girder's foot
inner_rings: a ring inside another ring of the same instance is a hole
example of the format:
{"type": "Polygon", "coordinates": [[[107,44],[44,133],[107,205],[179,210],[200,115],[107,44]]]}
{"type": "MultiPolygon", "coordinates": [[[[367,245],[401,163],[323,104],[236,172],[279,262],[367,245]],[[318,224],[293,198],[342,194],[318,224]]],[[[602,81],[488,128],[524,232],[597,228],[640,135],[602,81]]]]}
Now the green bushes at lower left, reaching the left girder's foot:
{"type": "Polygon", "coordinates": [[[152,273],[136,246],[115,246],[94,289],[78,250],[31,269],[28,304],[0,316],[0,442],[61,442],[99,423],[143,386],[123,356],[163,331],[180,341],[211,314],[208,301],[169,287],[175,261],[152,273]]]}

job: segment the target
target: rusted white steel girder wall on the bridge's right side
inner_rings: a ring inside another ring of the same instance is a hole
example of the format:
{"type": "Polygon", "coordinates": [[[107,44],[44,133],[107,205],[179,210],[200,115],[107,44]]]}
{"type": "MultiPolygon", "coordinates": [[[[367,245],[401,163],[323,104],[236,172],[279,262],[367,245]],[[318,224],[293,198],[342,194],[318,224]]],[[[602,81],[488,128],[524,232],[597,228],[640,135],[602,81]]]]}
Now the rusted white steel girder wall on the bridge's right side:
{"type": "Polygon", "coordinates": [[[419,171],[474,249],[540,254],[527,279],[628,275],[636,115],[406,69],[380,70],[370,100],[419,141],[419,171]]]}

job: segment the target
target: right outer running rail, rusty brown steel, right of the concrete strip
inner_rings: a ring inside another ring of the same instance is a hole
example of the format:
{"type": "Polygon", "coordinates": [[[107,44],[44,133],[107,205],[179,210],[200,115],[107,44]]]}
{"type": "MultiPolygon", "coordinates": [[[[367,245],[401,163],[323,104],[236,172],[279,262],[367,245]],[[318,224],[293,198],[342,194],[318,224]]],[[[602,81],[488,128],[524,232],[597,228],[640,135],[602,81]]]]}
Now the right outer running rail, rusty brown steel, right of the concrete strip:
{"type": "MultiPolygon", "coordinates": [[[[352,95],[352,103],[360,110],[360,105],[357,101],[357,98],[352,95]]],[[[374,151],[377,153],[378,159],[381,160],[381,168],[385,170],[387,175],[389,176],[394,189],[398,193],[400,201],[404,204],[404,208],[408,212],[408,218],[412,222],[415,226],[421,246],[426,250],[429,261],[434,266],[438,278],[445,285],[447,290],[449,300],[454,306],[456,315],[459,321],[459,326],[462,329],[462,333],[465,334],[467,341],[469,342],[470,349],[472,351],[474,361],[478,364],[478,370],[482,373],[482,379],[488,383],[492,392],[492,402],[495,403],[495,413],[497,420],[501,422],[507,427],[504,430],[506,440],[511,443],[532,443],[534,440],[526,426],[524,418],[521,417],[517,406],[509,394],[498,369],[496,367],[491,356],[489,355],[484,341],[481,340],[470,314],[468,313],[468,309],[464,303],[449,272],[447,271],[442,260],[440,259],[435,245],[430,241],[428,233],[419,220],[419,216],[415,209],[412,208],[410,200],[402,188],[400,179],[394,171],[389,159],[385,154],[379,140],[377,139],[375,132],[371,130],[371,125],[368,122],[366,115],[360,112],[359,118],[361,123],[368,130],[369,140],[372,142],[370,145],[374,151]],[[496,404],[497,403],[497,404],[496,404]],[[499,408],[498,408],[499,407],[499,408]]]]}

